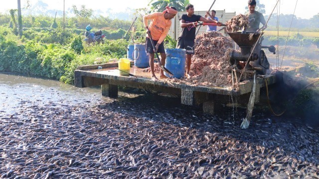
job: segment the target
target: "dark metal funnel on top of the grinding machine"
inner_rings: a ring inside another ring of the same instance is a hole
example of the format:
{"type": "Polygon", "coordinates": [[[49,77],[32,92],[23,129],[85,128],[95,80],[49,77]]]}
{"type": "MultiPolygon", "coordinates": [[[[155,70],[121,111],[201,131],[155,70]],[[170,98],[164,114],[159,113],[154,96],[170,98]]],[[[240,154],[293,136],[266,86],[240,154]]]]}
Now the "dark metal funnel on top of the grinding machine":
{"type": "Polygon", "coordinates": [[[241,32],[237,33],[228,33],[228,35],[236,42],[239,47],[253,47],[253,45],[257,42],[259,33],[255,33],[253,38],[250,40],[250,33],[242,34],[241,32]]]}

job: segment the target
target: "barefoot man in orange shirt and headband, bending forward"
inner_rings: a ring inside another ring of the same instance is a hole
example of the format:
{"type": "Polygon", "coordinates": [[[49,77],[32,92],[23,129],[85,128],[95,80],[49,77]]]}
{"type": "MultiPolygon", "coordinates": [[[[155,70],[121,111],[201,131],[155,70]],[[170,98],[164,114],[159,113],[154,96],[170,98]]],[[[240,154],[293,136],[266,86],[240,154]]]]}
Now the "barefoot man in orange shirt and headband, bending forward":
{"type": "MultiPolygon", "coordinates": [[[[166,54],[164,49],[163,40],[166,37],[168,30],[171,25],[171,20],[177,14],[175,7],[168,7],[163,12],[154,12],[143,16],[143,21],[148,33],[151,33],[152,40],[155,45],[155,49],[152,46],[151,39],[149,35],[146,37],[146,52],[150,54],[150,67],[152,71],[152,79],[158,80],[154,73],[154,53],[160,53],[160,62],[162,65],[165,64],[166,54]],[[151,20],[150,26],[148,25],[148,20],[151,20]]],[[[164,75],[162,69],[160,69],[160,78],[167,78],[164,75]]]]}

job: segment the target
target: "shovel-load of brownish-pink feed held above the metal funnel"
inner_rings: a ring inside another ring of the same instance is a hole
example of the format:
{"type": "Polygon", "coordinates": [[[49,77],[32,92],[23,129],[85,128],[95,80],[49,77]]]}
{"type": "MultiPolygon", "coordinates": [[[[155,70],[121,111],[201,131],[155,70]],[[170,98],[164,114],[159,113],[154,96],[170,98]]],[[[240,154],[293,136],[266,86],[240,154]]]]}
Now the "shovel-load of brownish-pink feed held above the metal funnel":
{"type": "Polygon", "coordinates": [[[238,14],[228,20],[226,24],[226,31],[229,32],[237,32],[241,30],[244,26],[247,26],[249,23],[247,15],[238,14]]]}

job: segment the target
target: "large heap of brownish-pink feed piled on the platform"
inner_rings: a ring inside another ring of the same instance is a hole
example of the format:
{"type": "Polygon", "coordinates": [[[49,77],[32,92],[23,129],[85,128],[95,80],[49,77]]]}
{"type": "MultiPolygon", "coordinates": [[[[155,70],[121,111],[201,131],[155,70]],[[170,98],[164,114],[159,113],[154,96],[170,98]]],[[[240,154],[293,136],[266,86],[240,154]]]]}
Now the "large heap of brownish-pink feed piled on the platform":
{"type": "Polygon", "coordinates": [[[231,64],[229,51],[233,49],[230,37],[212,31],[198,35],[195,39],[195,54],[192,56],[190,78],[169,79],[191,86],[231,87],[231,64]]]}

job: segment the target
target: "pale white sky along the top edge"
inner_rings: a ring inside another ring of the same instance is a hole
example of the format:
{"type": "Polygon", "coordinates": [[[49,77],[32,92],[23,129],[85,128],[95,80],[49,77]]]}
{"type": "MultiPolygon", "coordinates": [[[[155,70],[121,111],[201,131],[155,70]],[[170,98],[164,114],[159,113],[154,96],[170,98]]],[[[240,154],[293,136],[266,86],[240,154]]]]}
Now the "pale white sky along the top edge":
{"type": "MultiPolygon", "coordinates": [[[[21,0],[21,7],[26,6],[27,0],[21,0]]],[[[31,5],[38,0],[29,0],[31,5]]],[[[85,5],[86,8],[93,10],[112,8],[114,12],[125,11],[126,8],[142,8],[147,7],[150,0],[41,0],[48,4],[48,8],[63,10],[63,2],[65,9],[76,5],[80,8],[85,5]]],[[[189,0],[194,5],[195,10],[208,10],[214,0],[189,0]]],[[[319,13],[318,6],[315,1],[319,0],[279,0],[278,6],[275,7],[278,0],[260,0],[260,3],[265,4],[265,15],[270,15],[274,9],[274,13],[293,14],[297,3],[295,15],[300,18],[310,19],[319,13]],[[280,8],[278,8],[280,7],[280,8]]],[[[8,9],[17,8],[17,0],[0,0],[0,12],[8,12],[8,9]],[[3,3],[3,2],[4,3],[3,3]]],[[[248,0],[216,0],[212,9],[224,10],[226,12],[245,13],[248,0]]],[[[258,4],[257,4],[258,6],[258,4]]]]}

